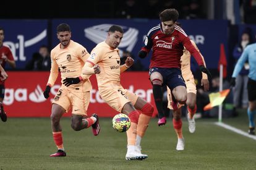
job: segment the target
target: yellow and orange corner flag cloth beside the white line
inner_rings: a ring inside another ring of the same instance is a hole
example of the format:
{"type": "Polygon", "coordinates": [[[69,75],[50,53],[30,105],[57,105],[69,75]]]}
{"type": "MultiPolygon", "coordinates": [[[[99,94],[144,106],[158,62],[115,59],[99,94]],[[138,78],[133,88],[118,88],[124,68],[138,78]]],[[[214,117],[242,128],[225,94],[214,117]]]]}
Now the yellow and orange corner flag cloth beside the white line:
{"type": "Polygon", "coordinates": [[[228,96],[230,89],[226,89],[223,91],[219,91],[216,93],[210,93],[209,98],[210,98],[210,103],[207,104],[203,110],[207,111],[213,108],[214,106],[219,106],[223,101],[225,100],[226,96],[228,96]]]}

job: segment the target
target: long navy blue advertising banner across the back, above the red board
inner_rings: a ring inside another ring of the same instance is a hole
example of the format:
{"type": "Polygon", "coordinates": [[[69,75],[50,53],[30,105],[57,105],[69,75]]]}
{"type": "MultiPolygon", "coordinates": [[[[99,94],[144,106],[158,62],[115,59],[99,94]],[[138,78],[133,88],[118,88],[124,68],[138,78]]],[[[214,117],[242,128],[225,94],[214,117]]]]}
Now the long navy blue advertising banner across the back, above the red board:
{"type": "MultiPolygon", "coordinates": [[[[187,35],[197,44],[205,57],[207,67],[216,69],[220,56],[220,44],[223,43],[226,47],[228,43],[228,20],[179,20],[179,22],[182,23],[182,28],[187,35]]],[[[142,63],[142,70],[148,70],[151,54],[145,59],[140,59],[137,54],[143,46],[145,35],[160,21],[148,19],[0,20],[0,27],[5,30],[4,45],[9,46],[14,54],[17,69],[25,69],[27,62],[32,59],[33,53],[37,52],[41,45],[51,45],[51,48],[58,45],[56,27],[59,23],[68,23],[72,30],[72,40],[85,46],[89,53],[97,43],[105,40],[111,25],[121,25],[124,29],[124,38],[119,45],[121,56],[122,51],[130,51],[134,55],[135,62],[142,63]],[[51,31],[47,32],[50,25],[51,31]]],[[[7,66],[6,69],[9,67],[7,66]]]]}

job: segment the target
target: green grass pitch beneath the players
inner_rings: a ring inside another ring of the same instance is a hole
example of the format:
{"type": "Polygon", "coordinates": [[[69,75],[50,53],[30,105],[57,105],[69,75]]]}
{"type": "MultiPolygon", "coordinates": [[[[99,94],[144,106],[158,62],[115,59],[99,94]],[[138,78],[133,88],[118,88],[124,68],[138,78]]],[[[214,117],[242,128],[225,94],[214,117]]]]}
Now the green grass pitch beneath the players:
{"type": "MultiPolygon", "coordinates": [[[[70,119],[62,118],[67,156],[50,158],[56,152],[49,118],[9,118],[0,122],[0,169],[254,169],[256,141],[213,124],[217,119],[197,119],[190,134],[183,119],[185,150],[176,151],[177,137],[168,119],[158,127],[152,119],[142,140],[143,161],[126,161],[126,134],[116,132],[112,119],[100,118],[101,132],[75,132],[70,119]]],[[[247,113],[223,119],[247,132],[247,113]]]]}

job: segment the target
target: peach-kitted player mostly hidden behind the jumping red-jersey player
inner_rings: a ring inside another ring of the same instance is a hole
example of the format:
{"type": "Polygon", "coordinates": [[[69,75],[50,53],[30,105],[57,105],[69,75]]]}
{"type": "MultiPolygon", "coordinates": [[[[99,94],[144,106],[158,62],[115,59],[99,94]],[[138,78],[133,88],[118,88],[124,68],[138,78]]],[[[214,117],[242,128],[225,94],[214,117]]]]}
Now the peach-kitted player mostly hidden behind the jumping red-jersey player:
{"type": "MultiPolygon", "coordinates": [[[[190,40],[192,45],[195,46],[197,51],[200,53],[199,49],[197,48],[197,45],[195,45],[194,41],[190,40]]],[[[200,53],[202,56],[202,54],[200,53]]],[[[194,114],[197,111],[197,87],[195,85],[195,79],[194,75],[192,74],[192,71],[190,69],[190,57],[191,54],[187,49],[185,48],[183,50],[183,55],[181,56],[181,72],[182,77],[185,80],[186,87],[187,87],[187,121],[189,122],[189,132],[194,133],[195,132],[195,119],[194,114]]],[[[203,56],[202,56],[203,59],[203,56]]],[[[203,62],[205,63],[204,59],[203,62]]],[[[203,86],[203,90],[207,91],[209,90],[209,81],[207,74],[202,73],[202,80],[201,85],[203,86]]],[[[171,90],[167,88],[167,98],[168,98],[168,108],[173,109],[172,107],[172,100],[171,100],[171,90]]],[[[182,120],[181,120],[181,104],[179,104],[179,108],[177,110],[173,111],[173,127],[177,134],[177,146],[176,150],[184,150],[185,147],[185,140],[182,135],[182,120]],[[181,122],[181,125],[177,125],[176,122],[181,122]]],[[[158,121],[158,125],[164,125],[166,124],[166,117],[164,116],[160,121],[158,121]]]]}

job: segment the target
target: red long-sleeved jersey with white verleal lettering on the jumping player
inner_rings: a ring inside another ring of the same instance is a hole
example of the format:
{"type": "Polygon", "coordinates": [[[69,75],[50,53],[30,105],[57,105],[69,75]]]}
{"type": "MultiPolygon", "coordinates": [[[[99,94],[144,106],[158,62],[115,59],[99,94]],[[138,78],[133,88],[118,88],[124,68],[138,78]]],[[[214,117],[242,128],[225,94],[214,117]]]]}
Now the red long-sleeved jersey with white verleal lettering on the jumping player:
{"type": "Polygon", "coordinates": [[[202,57],[192,45],[189,36],[177,25],[169,35],[163,33],[160,24],[151,28],[144,43],[143,51],[149,53],[150,49],[153,50],[150,68],[181,68],[180,62],[184,46],[195,57],[197,64],[203,65],[202,57]]]}

